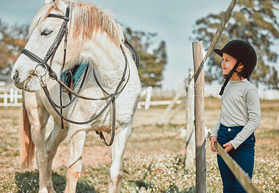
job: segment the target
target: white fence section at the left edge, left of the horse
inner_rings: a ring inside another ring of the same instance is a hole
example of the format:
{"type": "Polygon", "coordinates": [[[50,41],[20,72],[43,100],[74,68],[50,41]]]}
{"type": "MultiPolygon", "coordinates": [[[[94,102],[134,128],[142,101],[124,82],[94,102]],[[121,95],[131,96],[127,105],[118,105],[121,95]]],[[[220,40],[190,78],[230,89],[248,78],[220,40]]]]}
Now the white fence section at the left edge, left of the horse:
{"type": "Polygon", "coordinates": [[[0,86],[0,107],[20,107],[22,91],[15,86],[0,86]]]}

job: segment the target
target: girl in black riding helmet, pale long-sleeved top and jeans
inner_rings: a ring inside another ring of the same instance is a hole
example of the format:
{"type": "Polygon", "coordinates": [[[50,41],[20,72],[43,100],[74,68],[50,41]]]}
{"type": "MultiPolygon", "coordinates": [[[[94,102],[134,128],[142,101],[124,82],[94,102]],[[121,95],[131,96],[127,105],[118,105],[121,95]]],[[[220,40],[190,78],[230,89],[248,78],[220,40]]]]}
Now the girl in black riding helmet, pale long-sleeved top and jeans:
{"type": "MultiPolygon", "coordinates": [[[[243,40],[232,40],[223,49],[214,49],[223,57],[225,83],[221,88],[222,109],[210,136],[211,150],[218,141],[225,151],[252,179],[255,157],[255,130],[259,127],[259,95],[249,77],[255,69],[257,55],[243,40]]],[[[218,167],[223,192],[245,192],[220,155],[218,167]]]]}

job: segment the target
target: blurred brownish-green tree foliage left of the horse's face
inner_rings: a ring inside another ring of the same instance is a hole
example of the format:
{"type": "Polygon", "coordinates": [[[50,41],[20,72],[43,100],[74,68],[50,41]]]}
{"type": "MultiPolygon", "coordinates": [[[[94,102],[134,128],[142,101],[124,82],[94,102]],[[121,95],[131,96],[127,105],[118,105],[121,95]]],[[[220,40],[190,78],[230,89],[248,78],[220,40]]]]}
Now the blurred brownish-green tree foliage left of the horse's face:
{"type": "Polygon", "coordinates": [[[8,26],[0,20],[0,70],[14,63],[28,38],[28,25],[8,26]]]}

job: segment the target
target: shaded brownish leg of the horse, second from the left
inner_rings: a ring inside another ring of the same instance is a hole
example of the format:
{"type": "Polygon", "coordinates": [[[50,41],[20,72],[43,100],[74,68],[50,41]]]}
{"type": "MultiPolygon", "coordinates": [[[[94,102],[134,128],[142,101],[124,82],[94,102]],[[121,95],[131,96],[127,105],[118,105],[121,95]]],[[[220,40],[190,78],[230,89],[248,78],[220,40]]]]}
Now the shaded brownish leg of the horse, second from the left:
{"type": "Polygon", "coordinates": [[[48,193],[55,193],[52,184],[52,160],[56,154],[57,148],[61,141],[67,137],[68,128],[61,130],[61,123],[54,121],[54,128],[45,141],[45,150],[47,151],[47,190],[48,193]]]}

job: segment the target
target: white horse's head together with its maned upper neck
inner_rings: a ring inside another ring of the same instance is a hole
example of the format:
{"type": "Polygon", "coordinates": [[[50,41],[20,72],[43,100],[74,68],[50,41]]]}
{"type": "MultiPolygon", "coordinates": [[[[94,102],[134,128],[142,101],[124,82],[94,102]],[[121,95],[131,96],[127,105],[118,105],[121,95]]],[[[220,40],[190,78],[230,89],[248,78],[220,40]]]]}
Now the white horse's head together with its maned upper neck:
{"type": "MultiPolygon", "coordinates": [[[[40,90],[40,80],[36,74],[42,75],[45,72],[38,72],[44,71],[43,65],[39,65],[38,68],[38,63],[46,61],[47,52],[50,52],[50,47],[59,37],[63,22],[67,22],[68,26],[68,46],[64,68],[70,68],[84,60],[96,65],[112,63],[111,61],[116,61],[115,56],[121,56],[119,48],[123,41],[123,28],[110,15],[92,3],[45,0],[45,6],[40,8],[31,23],[29,41],[22,50],[23,54],[17,59],[13,68],[12,79],[15,86],[26,91],[40,90]],[[68,8],[70,8],[69,17],[67,17],[69,22],[64,17],[68,13],[68,8]],[[57,15],[59,15],[58,18],[57,15]],[[109,55],[110,59],[107,59],[109,55]],[[98,61],[101,59],[103,61],[98,61]]],[[[47,60],[47,64],[52,61],[52,69],[57,74],[63,65],[63,40],[65,37],[61,38],[61,44],[55,51],[54,57],[47,60]]]]}

